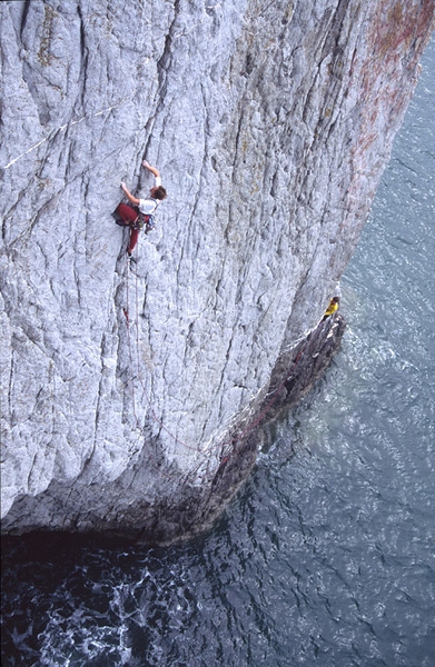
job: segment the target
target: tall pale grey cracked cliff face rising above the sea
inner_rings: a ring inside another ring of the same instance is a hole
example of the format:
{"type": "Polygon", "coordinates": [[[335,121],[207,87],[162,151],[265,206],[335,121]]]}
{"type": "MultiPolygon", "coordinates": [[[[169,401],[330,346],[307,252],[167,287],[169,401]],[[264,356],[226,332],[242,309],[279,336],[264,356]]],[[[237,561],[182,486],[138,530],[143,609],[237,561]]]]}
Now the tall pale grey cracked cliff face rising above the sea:
{"type": "Polygon", "coordinates": [[[170,539],[246,475],[235,429],[346,267],[434,8],[0,4],[4,530],[170,539]],[[144,157],[169,197],[130,270],[144,157]]]}

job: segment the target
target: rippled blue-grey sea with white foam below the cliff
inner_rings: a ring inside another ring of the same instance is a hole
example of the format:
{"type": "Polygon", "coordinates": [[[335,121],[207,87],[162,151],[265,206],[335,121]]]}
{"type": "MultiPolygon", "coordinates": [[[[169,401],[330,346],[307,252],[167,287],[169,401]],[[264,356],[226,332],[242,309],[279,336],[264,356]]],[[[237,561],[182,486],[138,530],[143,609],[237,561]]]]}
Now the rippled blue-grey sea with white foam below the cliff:
{"type": "Polygon", "coordinates": [[[423,64],[325,378],[195,542],[4,540],[3,666],[435,666],[434,40],[423,64]]]}

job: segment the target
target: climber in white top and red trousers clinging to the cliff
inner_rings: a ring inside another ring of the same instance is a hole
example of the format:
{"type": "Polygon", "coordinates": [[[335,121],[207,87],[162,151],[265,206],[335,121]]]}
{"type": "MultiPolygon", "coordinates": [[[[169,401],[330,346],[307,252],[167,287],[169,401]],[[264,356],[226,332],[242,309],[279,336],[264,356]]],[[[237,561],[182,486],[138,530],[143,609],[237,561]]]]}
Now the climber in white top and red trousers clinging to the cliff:
{"type": "Polygon", "coordinates": [[[152,213],[156,211],[157,207],[167,197],[166,189],[161,186],[161,179],[158,169],[156,169],[156,167],[151,167],[147,160],[144,160],[142,167],[148,169],[148,171],[155,176],[155,186],[150,190],[150,197],[147,199],[138,199],[137,197],[134,197],[131,192],[129,192],[126,183],[121,182],[121,188],[127,199],[134,206],[129,206],[128,203],[119,203],[115,213],[121,219],[118,225],[130,227],[130,239],[127,248],[127,253],[129,257],[131,257],[131,252],[138,241],[139,231],[144,223],[146,223],[149,218],[152,217],[152,213]]]}

